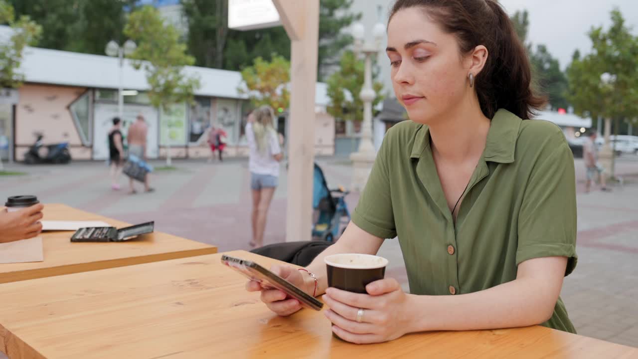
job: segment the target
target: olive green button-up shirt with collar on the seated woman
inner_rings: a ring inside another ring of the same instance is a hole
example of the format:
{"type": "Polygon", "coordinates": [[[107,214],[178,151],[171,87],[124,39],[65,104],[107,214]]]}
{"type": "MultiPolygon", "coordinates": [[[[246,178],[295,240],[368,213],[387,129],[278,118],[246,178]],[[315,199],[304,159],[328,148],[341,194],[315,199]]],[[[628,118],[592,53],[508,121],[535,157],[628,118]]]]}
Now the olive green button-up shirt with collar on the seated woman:
{"type": "MultiPolygon", "coordinates": [[[[496,112],[456,224],[441,189],[429,128],[390,128],[353,212],[380,238],[398,236],[410,292],[466,294],[516,279],[537,257],[568,257],[576,266],[574,157],[558,126],[496,112]]],[[[544,326],[575,333],[558,299],[544,326]]]]}

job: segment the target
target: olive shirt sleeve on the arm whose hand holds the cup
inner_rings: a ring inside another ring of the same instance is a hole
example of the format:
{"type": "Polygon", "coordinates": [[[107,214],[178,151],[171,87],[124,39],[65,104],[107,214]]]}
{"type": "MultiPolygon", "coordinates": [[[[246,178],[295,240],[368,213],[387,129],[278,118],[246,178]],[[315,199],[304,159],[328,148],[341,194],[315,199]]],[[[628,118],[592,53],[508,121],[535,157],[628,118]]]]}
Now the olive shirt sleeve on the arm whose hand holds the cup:
{"type": "Polygon", "coordinates": [[[565,141],[544,157],[531,172],[523,195],[516,264],[538,257],[567,257],[567,276],[577,263],[574,157],[565,141]]]}

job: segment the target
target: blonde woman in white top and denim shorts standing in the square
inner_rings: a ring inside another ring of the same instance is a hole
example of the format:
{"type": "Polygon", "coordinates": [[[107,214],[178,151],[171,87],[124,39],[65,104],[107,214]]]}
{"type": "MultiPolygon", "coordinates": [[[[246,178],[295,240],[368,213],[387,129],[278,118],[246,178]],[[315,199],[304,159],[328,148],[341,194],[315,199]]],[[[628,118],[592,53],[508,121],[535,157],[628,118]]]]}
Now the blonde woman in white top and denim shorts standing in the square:
{"type": "Polygon", "coordinates": [[[246,139],[250,149],[248,167],[253,191],[253,240],[251,247],[262,247],[268,208],[279,179],[279,161],[283,158],[279,137],[272,125],[274,112],[262,106],[248,115],[246,139]]]}

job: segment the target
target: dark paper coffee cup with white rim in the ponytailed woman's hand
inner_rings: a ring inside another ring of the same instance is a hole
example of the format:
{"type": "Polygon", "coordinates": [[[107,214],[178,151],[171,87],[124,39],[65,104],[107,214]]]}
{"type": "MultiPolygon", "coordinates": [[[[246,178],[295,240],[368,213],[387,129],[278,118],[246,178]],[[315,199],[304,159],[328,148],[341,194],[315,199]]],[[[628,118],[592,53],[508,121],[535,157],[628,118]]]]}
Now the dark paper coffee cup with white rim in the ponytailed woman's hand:
{"type": "Polygon", "coordinates": [[[367,293],[366,286],[385,277],[388,260],[370,254],[333,254],[323,259],[328,286],[354,293],[367,293]]]}

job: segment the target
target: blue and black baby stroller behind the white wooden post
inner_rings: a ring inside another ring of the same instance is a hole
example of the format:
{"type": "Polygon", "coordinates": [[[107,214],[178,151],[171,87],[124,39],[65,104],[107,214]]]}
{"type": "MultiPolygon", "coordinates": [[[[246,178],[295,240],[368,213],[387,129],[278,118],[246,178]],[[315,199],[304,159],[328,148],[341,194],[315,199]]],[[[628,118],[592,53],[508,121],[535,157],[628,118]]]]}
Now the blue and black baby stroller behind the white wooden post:
{"type": "Polygon", "coordinates": [[[343,230],[341,225],[350,222],[350,211],[345,197],[350,191],[343,188],[330,190],[323,176],[321,167],[315,164],[313,174],[313,208],[314,225],[313,238],[324,241],[334,241],[343,230]]]}

